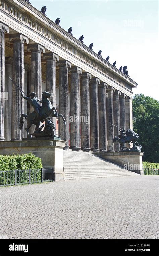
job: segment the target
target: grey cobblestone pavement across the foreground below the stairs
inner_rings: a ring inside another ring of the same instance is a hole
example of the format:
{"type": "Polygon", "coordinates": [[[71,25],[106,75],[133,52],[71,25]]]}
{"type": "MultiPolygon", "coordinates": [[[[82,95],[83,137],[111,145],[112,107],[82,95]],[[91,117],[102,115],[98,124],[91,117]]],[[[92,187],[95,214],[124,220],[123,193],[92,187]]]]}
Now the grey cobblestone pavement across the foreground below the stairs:
{"type": "Polygon", "coordinates": [[[113,177],[0,188],[1,237],[156,239],[158,177],[113,177]]]}

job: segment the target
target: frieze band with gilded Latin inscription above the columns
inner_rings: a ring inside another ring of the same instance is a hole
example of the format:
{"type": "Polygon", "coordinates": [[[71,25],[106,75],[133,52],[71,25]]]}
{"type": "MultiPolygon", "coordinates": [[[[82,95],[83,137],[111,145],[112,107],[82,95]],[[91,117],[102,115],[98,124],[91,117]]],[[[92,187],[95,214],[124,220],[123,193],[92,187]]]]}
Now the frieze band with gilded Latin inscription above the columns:
{"type": "Polygon", "coordinates": [[[11,15],[14,19],[17,19],[21,23],[23,23],[25,26],[28,26],[32,30],[36,31],[37,33],[41,34],[48,40],[52,41],[53,43],[57,44],[59,47],[64,49],[65,51],[69,52],[70,54],[74,55],[76,58],[80,59],[84,63],[88,64],[89,66],[93,67],[94,69],[98,70],[102,74],[106,75],[107,77],[111,78],[116,83],[126,86],[125,82],[121,80],[119,77],[115,76],[111,72],[109,72],[107,69],[105,69],[103,66],[97,64],[94,62],[91,58],[87,57],[86,55],[82,54],[80,51],[77,51],[73,46],[69,45],[68,43],[64,42],[54,34],[52,34],[49,30],[46,28],[43,28],[40,24],[37,22],[31,20],[28,16],[23,14],[21,11],[15,9],[14,7],[8,5],[4,1],[0,1],[0,8],[3,9],[6,13],[11,15]]]}

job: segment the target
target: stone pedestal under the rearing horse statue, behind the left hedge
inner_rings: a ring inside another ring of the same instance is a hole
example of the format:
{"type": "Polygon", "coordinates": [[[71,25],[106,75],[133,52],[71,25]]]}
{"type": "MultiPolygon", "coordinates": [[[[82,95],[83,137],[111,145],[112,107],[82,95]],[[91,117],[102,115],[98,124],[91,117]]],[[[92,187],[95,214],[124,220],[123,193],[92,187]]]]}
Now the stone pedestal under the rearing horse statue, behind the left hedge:
{"type": "Polygon", "coordinates": [[[38,138],[0,142],[1,155],[26,154],[32,152],[42,159],[44,168],[54,167],[54,181],[65,180],[63,172],[63,148],[65,141],[38,138]]]}

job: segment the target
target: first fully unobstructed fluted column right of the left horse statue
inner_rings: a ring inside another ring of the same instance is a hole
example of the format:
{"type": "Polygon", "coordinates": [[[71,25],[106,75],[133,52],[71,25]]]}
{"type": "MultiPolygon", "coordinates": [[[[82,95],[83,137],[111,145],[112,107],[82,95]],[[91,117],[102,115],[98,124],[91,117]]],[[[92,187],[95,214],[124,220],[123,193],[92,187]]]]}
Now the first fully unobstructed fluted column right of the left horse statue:
{"type": "Polygon", "coordinates": [[[73,122],[71,122],[70,119],[70,149],[73,151],[80,151],[80,74],[82,74],[82,69],[79,67],[72,67],[68,72],[71,73],[70,114],[73,117],[73,122]]]}

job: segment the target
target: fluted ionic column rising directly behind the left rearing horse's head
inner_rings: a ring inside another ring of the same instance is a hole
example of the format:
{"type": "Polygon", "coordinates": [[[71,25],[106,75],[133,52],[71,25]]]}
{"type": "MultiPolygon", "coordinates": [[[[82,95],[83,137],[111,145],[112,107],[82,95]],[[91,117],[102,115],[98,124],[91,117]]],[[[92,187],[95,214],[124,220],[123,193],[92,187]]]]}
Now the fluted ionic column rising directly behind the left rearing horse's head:
{"type": "MultiPolygon", "coordinates": [[[[43,60],[46,60],[46,91],[51,93],[51,104],[56,107],[56,61],[59,61],[59,56],[55,53],[45,53],[43,60]]],[[[51,120],[56,127],[56,117],[51,117],[51,120]]]]}

